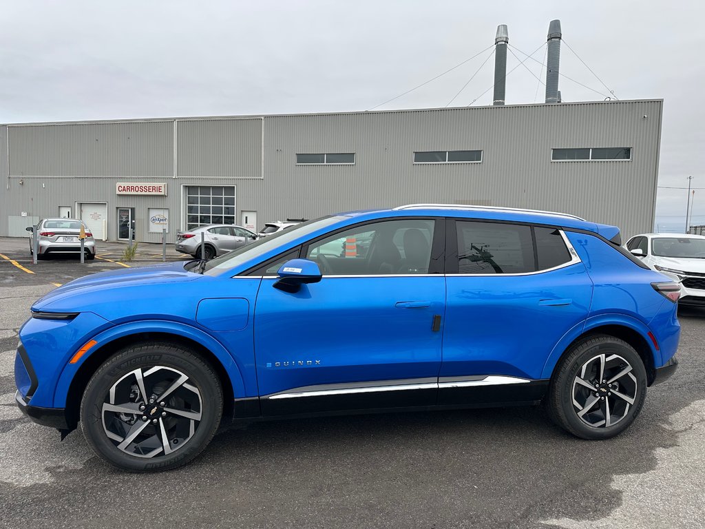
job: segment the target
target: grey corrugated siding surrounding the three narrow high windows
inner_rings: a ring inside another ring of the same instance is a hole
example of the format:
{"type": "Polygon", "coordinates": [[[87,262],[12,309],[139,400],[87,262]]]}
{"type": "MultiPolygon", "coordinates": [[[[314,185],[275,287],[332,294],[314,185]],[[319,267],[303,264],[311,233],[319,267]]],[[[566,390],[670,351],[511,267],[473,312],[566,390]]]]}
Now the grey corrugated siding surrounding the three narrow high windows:
{"type": "MultiPolygon", "coordinates": [[[[551,209],[651,231],[661,101],[265,118],[265,216],[408,202],[551,209]],[[649,118],[643,118],[647,115],[649,118]],[[631,162],[551,162],[553,147],[632,147],[631,162]],[[481,164],[412,163],[415,150],[482,149],[481,164]],[[355,166],[297,166],[356,152],[355,166]],[[644,207],[646,206],[646,207],[644,207]]],[[[242,196],[242,195],[240,195],[242,196]]],[[[260,197],[265,202],[264,197],[260,197]]],[[[266,220],[266,219],[263,219],[266,220]]]]}

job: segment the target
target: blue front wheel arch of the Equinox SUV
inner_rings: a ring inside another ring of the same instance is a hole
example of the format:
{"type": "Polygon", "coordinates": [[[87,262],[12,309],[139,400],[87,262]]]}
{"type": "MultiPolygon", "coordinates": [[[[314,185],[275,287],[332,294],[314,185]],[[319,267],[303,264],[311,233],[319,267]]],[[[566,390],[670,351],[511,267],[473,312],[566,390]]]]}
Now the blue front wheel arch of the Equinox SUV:
{"type": "MultiPolygon", "coordinates": [[[[164,323],[164,322],[162,322],[164,323]]],[[[133,326],[130,326],[133,327],[133,326]]],[[[162,325],[163,327],[163,325],[162,325]]],[[[233,416],[233,406],[235,395],[242,396],[245,389],[240,369],[233,361],[233,358],[227,351],[218,351],[216,354],[212,349],[212,343],[209,346],[204,345],[201,339],[197,341],[197,336],[187,335],[183,332],[175,332],[175,329],[153,329],[147,328],[132,328],[123,329],[125,332],[116,333],[116,328],[109,329],[97,336],[99,346],[91,351],[90,355],[86,355],[80,361],[80,365],[73,370],[69,368],[70,364],[63,370],[59,379],[57,392],[54,396],[55,405],[57,397],[61,394],[66,396],[66,401],[63,407],[66,408],[66,420],[69,430],[75,429],[80,418],[80,401],[85,391],[85,388],[92,377],[93,373],[111,356],[121,351],[123,348],[137,343],[145,343],[146,341],[159,343],[173,343],[177,346],[189,348],[195,354],[200,355],[214,368],[218,375],[221,386],[223,388],[223,417],[233,416]],[[108,336],[105,336],[105,335],[108,336]],[[224,353],[224,354],[223,354],[224,353]],[[61,387],[64,391],[60,391],[61,387]]],[[[196,330],[196,329],[192,329],[196,330]]],[[[199,334],[201,334],[199,332],[199,334]]],[[[207,336],[207,335],[204,335],[207,336]]],[[[206,341],[207,342],[207,341],[206,341]]],[[[216,342],[217,343],[217,342],[216,342]]],[[[221,346],[222,347],[222,346],[221,346]]],[[[217,351],[217,350],[216,350],[217,351]]],[[[60,404],[60,403],[59,403],[60,404]]]]}

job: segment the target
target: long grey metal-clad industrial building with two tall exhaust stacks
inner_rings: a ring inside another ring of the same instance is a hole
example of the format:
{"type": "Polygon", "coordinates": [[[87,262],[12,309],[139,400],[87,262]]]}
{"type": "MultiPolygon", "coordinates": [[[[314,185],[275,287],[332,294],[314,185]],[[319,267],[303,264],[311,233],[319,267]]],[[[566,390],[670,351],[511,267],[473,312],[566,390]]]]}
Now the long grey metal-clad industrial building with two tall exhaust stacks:
{"type": "Polygon", "coordinates": [[[199,224],[414,202],[651,231],[663,101],[560,102],[551,23],[546,103],[505,105],[502,28],[491,107],[0,125],[0,236],[78,217],[98,239],[126,239],[134,222],[138,241],[166,228],[173,243],[199,224]]]}

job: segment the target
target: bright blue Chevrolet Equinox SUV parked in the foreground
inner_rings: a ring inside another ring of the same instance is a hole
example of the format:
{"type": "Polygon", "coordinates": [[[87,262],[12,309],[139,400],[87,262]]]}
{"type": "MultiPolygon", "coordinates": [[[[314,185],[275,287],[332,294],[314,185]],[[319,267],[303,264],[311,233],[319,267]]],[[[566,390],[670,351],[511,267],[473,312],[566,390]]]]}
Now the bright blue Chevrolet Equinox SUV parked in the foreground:
{"type": "Polygon", "coordinates": [[[32,305],[16,401],[140,472],[192,460],[221,422],[285,415],[544,401],[608,439],[675,372],[680,336],[680,286],[619,237],[567,214],[410,205],[92,274],[32,305]],[[364,254],[319,251],[362,233],[364,254]]]}

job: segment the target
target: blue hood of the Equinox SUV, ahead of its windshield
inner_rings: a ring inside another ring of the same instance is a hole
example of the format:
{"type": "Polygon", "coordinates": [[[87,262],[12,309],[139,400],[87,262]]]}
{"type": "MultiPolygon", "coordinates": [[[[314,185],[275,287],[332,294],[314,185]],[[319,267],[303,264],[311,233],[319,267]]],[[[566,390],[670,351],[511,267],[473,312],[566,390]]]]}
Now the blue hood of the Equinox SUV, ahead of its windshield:
{"type": "Polygon", "coordinates": [[[184,262],[173,262],[151,267],[128,268],[90,274],[55,288],[46,296],[37,300],[32,305],[32,310],[59,312],[66,310],[67,305],[81,305],[81,300],[102,296],[106,290],[131,290],[131,287],[195,281],[203,277],[200,274],[186,272],[183,268],[184,265],[184,262]]]}

